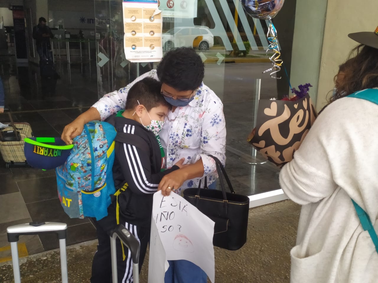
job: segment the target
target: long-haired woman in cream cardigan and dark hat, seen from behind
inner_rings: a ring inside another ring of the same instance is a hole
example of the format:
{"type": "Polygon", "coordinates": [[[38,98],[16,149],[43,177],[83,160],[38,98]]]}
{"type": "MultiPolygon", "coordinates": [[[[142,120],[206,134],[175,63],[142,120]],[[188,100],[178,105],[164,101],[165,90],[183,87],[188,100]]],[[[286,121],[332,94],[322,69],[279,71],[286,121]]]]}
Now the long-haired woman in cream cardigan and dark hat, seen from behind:
{"type": "Polygon", "coordinates": [[[336,77],[330,105],[279,176],[285,194],[302,205],[290,252],[292,283],[378,278],[378,245],[370,237],[378,231],[378,105],[347,97],[378,88],[378,28],[349,37],[361,45],[336,77]],[[371,231],[364,231],[352,200],[367,213],[371,231]]]}

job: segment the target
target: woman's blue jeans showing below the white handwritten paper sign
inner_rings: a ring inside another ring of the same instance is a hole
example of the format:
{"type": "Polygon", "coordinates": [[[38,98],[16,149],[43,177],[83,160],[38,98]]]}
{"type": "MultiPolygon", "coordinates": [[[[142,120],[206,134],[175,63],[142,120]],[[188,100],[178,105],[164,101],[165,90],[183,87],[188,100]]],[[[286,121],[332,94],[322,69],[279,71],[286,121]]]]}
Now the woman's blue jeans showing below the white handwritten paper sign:
{"type": "Polygon", "coordinates": [[[164,283],[206,283],[206,273],[197,265],[187,260],[168,260],[169,268],[164,283]]]}

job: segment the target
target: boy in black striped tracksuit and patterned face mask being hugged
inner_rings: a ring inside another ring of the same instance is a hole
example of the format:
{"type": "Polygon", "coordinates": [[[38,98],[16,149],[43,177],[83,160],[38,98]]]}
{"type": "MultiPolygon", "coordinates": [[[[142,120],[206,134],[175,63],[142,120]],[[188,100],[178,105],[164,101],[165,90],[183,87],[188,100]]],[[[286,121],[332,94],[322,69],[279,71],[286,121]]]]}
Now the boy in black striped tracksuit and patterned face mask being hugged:
{"type": "MultiPolygon", "coordinates": [[[[122,133],[115,139],[113,165],[113,178],[118,192],[108,208],[108,216],[94,221],[98,246],[93,257],[91,283],[111,282],[109,236],[117,222],[129,229],[140,242],[140,272],[147,243],[150,240],[153,193],[157,191],[161,178],[181,168],[184,160],[181,159],[172,168],[164,170],[165,157],[158,133],[163,128],[164,118],[170,107],[161,95],[161,84],[153,78],[144,78],[130,88],[126,109],[119,111],[116,117],[112,118],[116,131],[122,133]]],[[[117,268],[119,282],[133,281],[132,257],[130,251],[127,247],[122,247],[120,241],[117,241],[117,268]]]]}

